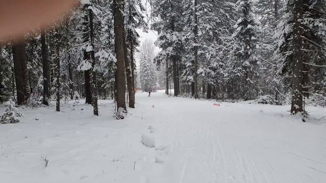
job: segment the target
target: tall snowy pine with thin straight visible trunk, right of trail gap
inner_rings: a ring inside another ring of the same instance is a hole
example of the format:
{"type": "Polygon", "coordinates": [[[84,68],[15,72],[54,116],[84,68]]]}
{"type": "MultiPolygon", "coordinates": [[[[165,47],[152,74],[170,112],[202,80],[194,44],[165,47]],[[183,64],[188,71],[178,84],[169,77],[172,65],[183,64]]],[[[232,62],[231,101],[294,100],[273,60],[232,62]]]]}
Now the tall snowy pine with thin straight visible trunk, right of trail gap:
{"type": "MultiPolygon", "coordinates": [[[[184,44],[186,54],[186,70],[183,71],[183,80],[191,81],[194,87],[193,96],[198,98],[198,79],[203,80],[209,74],[210,63],[215,50],[214,32],[218,27],[218,14],[214,11],[213,1],[191,0],[184,1],[186,26],[184,29],[184,44]]],[[[207,80],[206,80],[207,81],[207,80]]]]}

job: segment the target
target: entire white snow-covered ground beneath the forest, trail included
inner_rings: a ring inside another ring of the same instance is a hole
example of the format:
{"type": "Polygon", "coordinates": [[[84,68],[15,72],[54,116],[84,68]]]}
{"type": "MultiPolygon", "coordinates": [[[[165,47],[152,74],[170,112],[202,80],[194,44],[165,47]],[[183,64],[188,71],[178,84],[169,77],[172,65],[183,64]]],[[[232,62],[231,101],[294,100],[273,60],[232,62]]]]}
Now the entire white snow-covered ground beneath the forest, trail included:
{"type": "Polygon", "coordinates": [[[0,182],[326,182],[325,109],[303,123],[289,106],[136,99],[124,120],[112,101],[99,117],[90,105],[20,109],[0,125],[0,182]]]}

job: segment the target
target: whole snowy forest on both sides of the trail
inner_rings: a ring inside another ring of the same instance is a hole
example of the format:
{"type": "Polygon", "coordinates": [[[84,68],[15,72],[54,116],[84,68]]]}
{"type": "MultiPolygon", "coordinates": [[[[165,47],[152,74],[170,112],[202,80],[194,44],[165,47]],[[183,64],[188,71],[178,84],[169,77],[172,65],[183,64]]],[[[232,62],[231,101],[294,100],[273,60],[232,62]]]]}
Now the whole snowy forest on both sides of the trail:
{"type": "MultiPolygon", "coordinates": [[[[291,99],[291,113],[303,114],[308,98],[326,103],[324,0],[76,3],[55,24],[1,41],[1,101],[49,105],[55,99],[60,111],[63,99],[81,95],[98,115],[98,98],[111,98],[123,118],[126,104],[135,103],[136,29],[150,27],[160,52],[141,53],[141,65],[153,70],[148,63],[154,60],[165,72],[166,94],[173,88],[175,96],[195,99],[291,99]]],[[[142,78],[157,82],[157,73],[144,72],[142,78]]]]}

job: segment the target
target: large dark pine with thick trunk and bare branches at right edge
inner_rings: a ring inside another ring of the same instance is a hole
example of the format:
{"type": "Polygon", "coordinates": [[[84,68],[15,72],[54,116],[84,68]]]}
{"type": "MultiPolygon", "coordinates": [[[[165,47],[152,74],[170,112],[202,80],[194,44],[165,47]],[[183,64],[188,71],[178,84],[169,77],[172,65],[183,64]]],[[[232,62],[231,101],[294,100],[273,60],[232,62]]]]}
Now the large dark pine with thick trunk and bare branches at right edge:
{"type": "Polygon", "coordinates": [[[304,113],[303,102],[309,97],[309,90],[318,93],[318,85],[323,83],[323,77],[316,73],[322,73],[318,66],[325,65],[326,26],[322,12],[326,10],[326,2],[293,0],[284,7],[285,15],[276,35],[279,38],[276,54],[283,56],[278,64],[279,72],[292,87],[291,113],[304,113]],[[316,85],[310,87],[312,83],[316,85]]]}

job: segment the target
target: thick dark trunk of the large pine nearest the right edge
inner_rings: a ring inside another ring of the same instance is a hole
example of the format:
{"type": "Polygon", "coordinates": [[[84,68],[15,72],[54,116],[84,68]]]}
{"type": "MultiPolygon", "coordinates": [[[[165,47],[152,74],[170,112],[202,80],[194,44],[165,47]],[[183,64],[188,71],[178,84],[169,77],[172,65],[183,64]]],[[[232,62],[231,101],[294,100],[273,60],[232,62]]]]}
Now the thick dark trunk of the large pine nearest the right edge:
{"type": "Polygon", "coordinates": [[[291,114],[303,112],[302,93],[302,34],[303,0],[294,1],[293,9],[293,53],[292,53],[292,103],[291,114]]]}

